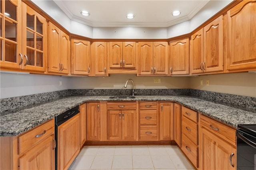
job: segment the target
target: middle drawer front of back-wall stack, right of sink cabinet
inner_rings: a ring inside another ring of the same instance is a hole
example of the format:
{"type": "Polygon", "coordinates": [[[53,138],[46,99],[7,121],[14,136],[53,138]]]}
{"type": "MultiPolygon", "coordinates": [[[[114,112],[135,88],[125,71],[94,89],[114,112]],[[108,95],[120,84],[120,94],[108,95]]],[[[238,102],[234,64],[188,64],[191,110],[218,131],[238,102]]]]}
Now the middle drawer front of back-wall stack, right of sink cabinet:
{"type": "Polygon", "coordinates": [[[156,110],[140,110],[140,125],[156,125],[156,110]]]}

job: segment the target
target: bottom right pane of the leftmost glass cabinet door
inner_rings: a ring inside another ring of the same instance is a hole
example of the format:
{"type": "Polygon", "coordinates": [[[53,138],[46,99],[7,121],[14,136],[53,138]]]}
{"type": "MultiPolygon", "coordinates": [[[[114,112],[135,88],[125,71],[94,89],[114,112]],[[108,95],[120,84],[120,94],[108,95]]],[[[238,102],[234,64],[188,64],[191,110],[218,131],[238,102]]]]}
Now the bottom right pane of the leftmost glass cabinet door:
{"type": "Polygon", "coordinates": [[[16,63],[17,62],[17,46],[14,43],[5,41],[5,61],[16,63]]]}

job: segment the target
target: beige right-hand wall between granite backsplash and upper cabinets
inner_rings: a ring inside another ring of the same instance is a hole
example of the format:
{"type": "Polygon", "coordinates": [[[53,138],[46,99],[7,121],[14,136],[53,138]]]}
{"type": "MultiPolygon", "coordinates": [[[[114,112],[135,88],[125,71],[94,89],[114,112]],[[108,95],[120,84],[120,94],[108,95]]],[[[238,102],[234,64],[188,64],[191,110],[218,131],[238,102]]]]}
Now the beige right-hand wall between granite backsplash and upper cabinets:
{"type": "Polygon", "coordinates": [[[256,97],[256,73],[212,74],[190,77],[190,88],[256,97]],[[203,80],[203,86],[200,86],[200,80],[203,80]],[[206,86],[206,80],[210,80],[209,86],[206,86]]]}

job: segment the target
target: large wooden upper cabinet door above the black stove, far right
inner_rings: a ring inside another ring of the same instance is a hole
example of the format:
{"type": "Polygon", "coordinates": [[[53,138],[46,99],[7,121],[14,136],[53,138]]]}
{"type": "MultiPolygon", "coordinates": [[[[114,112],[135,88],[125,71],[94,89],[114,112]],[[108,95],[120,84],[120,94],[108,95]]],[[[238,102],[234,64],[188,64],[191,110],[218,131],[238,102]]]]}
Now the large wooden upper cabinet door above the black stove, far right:
{"type": "Polygon", "coordinates": [[[227,12],[226,70],[256,70],[256,1],[242,1],[227,12]]]}

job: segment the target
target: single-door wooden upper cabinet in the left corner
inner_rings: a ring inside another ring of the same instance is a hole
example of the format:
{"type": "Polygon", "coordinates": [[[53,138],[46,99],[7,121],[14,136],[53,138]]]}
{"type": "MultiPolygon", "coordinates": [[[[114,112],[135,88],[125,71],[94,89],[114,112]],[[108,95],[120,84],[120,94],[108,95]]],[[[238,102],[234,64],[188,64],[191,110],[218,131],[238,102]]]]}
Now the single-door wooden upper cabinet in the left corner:
{"type": "Polygon", "coordinates": [[[71,74],[90,74],[90,41],[71,39],[71,74]]]}

